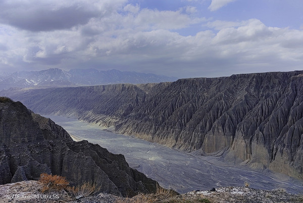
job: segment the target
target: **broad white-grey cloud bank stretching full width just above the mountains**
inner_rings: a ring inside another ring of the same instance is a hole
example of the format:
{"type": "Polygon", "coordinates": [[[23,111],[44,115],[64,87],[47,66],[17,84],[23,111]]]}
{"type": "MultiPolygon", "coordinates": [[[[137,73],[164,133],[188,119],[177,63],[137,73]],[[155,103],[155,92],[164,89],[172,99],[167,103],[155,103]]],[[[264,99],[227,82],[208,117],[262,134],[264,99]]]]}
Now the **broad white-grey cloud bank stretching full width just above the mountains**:
{"type": "Polygon", "coordinates": [[[10,48],[0,52],[0,66],[102,67],[211,77],[252,68],[254,72],[287,71],[299,69],[302,63],[303,44],[298,43],[303,41],[302,30],[267,27],[258,19],[250,19],[225,27],[219,21],[209,22],[220,28],[218,32],[205,30],[181,36],[168,29],[151,29],[155,24],[149,30],[145,24],[133,27],[136,18],[141,17],[131,16],[126,21],[125,16],[115,14],[77,29],[31,34],[5,26],[10,31],[2,35],[0,44],[10,48]],[[99,30],[98,34],[83,35],[86,26],[99,30]]]}

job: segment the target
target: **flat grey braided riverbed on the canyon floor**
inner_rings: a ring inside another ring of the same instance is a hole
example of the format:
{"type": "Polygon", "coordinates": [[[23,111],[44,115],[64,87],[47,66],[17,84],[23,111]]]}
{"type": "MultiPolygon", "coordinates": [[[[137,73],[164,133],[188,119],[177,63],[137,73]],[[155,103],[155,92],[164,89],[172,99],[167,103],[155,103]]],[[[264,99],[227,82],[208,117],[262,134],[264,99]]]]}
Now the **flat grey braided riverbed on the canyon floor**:
{"type": "Polygon", "coordinates": [[[61,125],[77,140],[88,140],[125,156],[129,166],[179,193],[210,190],[213,187],[244,186],[257,189],[284,188],[303,193],[302,181],[269,170],[253,171],[246,166],[232,166],[215,156],[187,154],[157,143],[103,130],[75,118],[44,115],[61,125]]]}

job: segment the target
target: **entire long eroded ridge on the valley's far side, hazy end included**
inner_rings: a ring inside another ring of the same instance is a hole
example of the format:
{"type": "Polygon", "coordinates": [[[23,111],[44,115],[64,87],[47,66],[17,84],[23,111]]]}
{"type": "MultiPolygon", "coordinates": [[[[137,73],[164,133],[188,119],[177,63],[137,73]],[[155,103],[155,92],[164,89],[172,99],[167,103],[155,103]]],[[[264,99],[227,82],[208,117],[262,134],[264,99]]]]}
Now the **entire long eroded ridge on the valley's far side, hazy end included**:
{"type": "Polygon", "coordinates": [[[234,163],[302,174],[303,71],[34,90],[12,97],[38,113],[76,116],[177,149],[221,151],[234,163]]]}

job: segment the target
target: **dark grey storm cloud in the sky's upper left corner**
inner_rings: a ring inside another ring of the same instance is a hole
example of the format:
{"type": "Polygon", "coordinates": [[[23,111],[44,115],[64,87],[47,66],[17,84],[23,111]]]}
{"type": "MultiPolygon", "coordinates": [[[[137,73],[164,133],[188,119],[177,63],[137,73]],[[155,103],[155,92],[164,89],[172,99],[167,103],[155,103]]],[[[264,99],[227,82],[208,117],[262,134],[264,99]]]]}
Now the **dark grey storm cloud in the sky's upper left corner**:
{"type": "Polygon", "coordinates": [[[0,3],[0,23],[30,31],[52,31],[86,24],[98,12],[79,5],[52,8],[47,5],[0,3]]]}

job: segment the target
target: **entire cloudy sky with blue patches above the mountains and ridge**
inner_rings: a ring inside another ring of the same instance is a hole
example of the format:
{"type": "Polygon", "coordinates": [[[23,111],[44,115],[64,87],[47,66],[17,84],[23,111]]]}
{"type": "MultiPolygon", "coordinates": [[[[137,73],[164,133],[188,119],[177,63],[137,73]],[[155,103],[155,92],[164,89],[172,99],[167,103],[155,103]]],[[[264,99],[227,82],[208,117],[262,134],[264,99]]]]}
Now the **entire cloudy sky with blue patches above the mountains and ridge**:
{"type": "Polygon", "coordinates": [[[303,70],[301,0],[2,0],[0,72],[303,70]]]}

